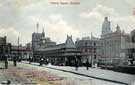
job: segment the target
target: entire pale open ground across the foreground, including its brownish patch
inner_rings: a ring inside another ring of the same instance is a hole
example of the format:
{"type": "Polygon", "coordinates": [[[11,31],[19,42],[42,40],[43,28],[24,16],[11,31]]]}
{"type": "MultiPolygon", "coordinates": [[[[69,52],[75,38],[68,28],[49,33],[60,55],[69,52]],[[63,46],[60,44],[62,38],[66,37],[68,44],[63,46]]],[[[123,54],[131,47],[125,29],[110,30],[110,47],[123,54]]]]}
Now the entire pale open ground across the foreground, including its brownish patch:
{"type": "MultiPolygon", "coordinates": [[[[7,80],[11,85],[135,85],[134,75],[99,68],[29,64],[27,61],[9,62],[8,69],[0,69],[0,83],[7,80]]],[[[1,85],[1,84],[0,84],[1,85]]]]}

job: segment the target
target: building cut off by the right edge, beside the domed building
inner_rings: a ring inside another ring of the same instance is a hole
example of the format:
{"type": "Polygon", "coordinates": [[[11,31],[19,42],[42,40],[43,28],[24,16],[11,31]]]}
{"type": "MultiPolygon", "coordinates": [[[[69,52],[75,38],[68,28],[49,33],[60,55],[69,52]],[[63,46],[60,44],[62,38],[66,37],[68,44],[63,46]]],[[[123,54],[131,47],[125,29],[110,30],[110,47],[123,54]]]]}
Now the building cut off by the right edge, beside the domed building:
{"type": "Polygon", "coordinates": [[[125,51],[126,57],[122,60],[124,65],[135,65],[135,30],[131,31],[127,39],[122,39],[124,46],[123,50],[125,51]]]}

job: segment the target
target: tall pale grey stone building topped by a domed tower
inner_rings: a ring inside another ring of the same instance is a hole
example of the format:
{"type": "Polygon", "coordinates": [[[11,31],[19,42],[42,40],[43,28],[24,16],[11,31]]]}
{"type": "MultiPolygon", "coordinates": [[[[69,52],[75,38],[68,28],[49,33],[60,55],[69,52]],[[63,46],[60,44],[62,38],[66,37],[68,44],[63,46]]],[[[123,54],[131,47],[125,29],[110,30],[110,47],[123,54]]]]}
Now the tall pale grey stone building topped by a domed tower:
{"type": "Polygon", "coordinates": [[[112,32],[110,28],[110,21],[108,21],[108,18],[105,17],[102,30],[108,31],[102,31],[101,34],[102,55],[99,59],[99,63],[107,65],[119,65],[122,62],[121,59],[126,58],[127,51],[123,48],[126,45],[125,43],[128,42],[130,38],[128,34],[125,34],[124,31],[120,30],[119,25],[116,26],[116,31],[114,32],[112,32]]]}

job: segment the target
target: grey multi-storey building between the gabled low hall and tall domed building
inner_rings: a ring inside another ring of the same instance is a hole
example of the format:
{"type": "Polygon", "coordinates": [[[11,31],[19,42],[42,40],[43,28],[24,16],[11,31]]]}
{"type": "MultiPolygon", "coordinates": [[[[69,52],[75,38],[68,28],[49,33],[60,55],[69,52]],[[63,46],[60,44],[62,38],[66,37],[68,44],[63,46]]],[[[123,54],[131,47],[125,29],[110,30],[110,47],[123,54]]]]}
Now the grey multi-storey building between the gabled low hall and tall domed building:
{"type": "Polygon", "coordinates": [[[98,62],[98,57],[101,56],[101,42],[99,38],[84,37],[81,40],[77,40],[75,44],[77,49],[81,51],[82,63],[86,63],[87,59],[92,65],[98,62]]]}

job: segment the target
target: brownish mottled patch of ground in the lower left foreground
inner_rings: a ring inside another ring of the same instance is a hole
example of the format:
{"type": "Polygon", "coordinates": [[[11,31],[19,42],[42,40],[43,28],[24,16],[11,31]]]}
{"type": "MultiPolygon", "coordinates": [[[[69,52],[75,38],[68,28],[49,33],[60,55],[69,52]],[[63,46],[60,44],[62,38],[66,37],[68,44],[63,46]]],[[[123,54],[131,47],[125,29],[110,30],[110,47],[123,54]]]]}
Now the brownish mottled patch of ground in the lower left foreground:
{"type": "Polygon", "coordinates": [[[13,62],[9,61],[8,69],[0,69],[0,85],[60,85],[61,77],[33,67],[23,63],[17,63],[14,67],[13,62]],[[10,84],[7,84],[8,81],[10,84]]]}

